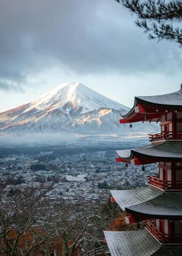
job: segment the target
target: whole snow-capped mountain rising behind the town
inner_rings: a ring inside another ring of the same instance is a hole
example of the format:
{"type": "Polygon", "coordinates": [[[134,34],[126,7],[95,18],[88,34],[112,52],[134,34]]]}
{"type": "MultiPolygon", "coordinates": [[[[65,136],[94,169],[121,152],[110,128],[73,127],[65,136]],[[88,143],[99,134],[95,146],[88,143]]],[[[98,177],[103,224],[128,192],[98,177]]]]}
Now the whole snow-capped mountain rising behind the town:
{"type": "MultiPolygon", "coordinates": [[[[0,133],[62,132],[131,133],[120,125],[127,106],[93,91],[81,83],[64,83],[32,101],[0,113],[0,133]]],[[[155,129],[135,125],[135,132],[155,129]]]]}

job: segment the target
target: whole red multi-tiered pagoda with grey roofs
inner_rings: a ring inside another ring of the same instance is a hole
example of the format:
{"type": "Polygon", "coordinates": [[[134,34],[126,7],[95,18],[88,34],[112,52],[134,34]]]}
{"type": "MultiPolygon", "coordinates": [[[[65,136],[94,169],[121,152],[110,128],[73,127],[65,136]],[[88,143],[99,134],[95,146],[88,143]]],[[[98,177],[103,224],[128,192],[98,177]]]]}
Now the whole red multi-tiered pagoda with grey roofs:
{"type": "Polygon", "coordinates": [[[136,121],[160,123],[161,133],[149,135],[149,146],[117,151],[116,161],[159,162],[159,172],[148,176],[146,187],[110,191],[127,224],[144,223],[138,231],[105,231],[110,255],[182,255],[182,86],[175,93],[135,97],[120,123],[136,121]]]}

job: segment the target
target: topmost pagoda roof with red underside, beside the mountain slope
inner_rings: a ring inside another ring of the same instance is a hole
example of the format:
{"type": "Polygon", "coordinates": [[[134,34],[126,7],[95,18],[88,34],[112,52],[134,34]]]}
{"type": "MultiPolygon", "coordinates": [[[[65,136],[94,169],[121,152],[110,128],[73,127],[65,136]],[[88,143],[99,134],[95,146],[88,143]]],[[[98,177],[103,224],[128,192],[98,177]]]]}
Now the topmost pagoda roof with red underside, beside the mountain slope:
{"type": "Polygon", "coordinates": [[[164,95],[135,97],[133,108],[122,115],[123,119],[120,123],[159,121],[161,116],[168,111],[181,112],[181,107],[182,89],[164,95]]]}

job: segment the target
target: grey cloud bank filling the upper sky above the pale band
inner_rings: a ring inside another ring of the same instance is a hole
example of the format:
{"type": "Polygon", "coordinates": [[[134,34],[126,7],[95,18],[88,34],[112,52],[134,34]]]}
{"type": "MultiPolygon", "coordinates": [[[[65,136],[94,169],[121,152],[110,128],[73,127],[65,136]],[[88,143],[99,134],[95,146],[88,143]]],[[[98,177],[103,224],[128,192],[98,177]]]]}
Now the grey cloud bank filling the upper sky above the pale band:
{"type": "Polygon", "coordinates": [[[134,20],[114,0],[0,0],[0,79],[25,84],[54,65],[79,74],[181,67],[181,50],[148,40],[134,20]]]}

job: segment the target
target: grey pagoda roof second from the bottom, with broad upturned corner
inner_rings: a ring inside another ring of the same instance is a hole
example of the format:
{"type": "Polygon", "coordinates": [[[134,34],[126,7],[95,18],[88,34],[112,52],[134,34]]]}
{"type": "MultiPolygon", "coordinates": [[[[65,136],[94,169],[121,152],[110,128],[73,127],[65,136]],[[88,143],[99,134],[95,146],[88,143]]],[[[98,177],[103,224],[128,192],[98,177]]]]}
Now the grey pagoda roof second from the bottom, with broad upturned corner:
{"type": "Polygon", "coordinates": [[[182,217],[182,193],[166,193],[150,186],[112,190],[110,193],[120,208],[127,213],[175,219],[182,217]]]}

